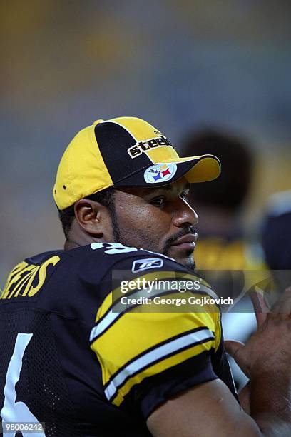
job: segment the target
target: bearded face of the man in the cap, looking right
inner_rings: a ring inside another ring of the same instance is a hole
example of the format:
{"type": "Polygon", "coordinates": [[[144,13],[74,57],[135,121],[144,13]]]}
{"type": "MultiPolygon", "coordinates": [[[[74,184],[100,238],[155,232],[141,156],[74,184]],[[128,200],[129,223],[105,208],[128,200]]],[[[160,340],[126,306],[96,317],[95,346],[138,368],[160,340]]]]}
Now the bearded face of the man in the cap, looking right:
{"type": "Polygon", "coordinates": [[[116,190],[115,241],[163,253],[195,268],[193,251],[197,233],[194,225],[198,216],[187,203],[187,194],[185,178],[156,189],[116,190]]]}

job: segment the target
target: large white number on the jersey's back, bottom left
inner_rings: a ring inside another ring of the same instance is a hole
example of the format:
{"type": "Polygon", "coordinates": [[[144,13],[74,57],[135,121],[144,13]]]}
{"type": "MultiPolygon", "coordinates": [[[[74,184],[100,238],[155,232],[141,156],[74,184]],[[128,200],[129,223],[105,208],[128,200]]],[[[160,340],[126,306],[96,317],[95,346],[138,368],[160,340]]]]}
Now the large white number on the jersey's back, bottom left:
{"type": "MultiPolygon", "coordinates": [[[[19,381],[20,372],[22,368],[22,359],[24,357],[24,352],[26,347],[31,341],[33,334],[19,333],[16,338],[16,343],[14,346],[14,352],[11,356],[11,360],[8,366],[8,371],[6,374],[6,384],[4,387],[4,406],[1,409],[1,418],[3,423],[39,423],[37,418],[31,413],[29,407],[24,402],[16,402],[16,383],[19,381]]],[[[4,431],[4,430],[3,430],[4,431]]],[[[17,431],[15,431],[16,433],[17,431]]],[[[24,437],[46,437],[43,431],[38,433],[26,433],[22,431],[24,437]]],[[[15,436],[15,433],[11,431],[3,432],[4,437],[15,436]]]]}

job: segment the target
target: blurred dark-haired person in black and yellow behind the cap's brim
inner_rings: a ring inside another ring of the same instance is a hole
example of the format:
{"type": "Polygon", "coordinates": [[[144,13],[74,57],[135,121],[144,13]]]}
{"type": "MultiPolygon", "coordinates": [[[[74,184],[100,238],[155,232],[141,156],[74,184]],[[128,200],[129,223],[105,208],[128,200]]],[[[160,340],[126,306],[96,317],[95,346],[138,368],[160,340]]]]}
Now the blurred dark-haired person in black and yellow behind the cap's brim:
{"type": "MultiPolygon", "coordinates": [[[[208,128],[185,136],[182,146],[186,156],[194,152],[202,155],[207,150],[220,159],[223,171],[218,179],[190,187],[189,201],[198,208],[200,218],[195,262],[218,294],[238,299],[245,282],[242,271],[264,268],[260,246],[246,236],[242,221],[254,166],[250,144],[208,128]]],[[[250,298],[240,299],[233,309],[235,312],[223,308],[225,338],[245,342],[256,326],[250,298]]],[[[235,361],[230,360],[230,364],[235,383],[243,386],[247,379],[235,361]]]]}

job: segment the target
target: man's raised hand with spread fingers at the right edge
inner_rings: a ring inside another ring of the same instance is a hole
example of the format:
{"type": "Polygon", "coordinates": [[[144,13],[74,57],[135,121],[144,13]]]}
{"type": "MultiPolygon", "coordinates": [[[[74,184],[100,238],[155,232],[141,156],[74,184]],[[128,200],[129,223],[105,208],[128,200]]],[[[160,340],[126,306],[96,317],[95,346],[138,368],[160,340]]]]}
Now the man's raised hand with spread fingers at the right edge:
{"type": "Polygon", "coordinates": [[[226,341],[225,349],[250,378],[245,393],[240,396],[245,411],[250,411],[261,429],[272,411],[276,420],[282,421],[282,428],[287,426],[290,433],[291,288],[282,294],[272,312],[268,311],[260,293],[252,296],[252,303],[257,332],[246,345],[226,341]]]}

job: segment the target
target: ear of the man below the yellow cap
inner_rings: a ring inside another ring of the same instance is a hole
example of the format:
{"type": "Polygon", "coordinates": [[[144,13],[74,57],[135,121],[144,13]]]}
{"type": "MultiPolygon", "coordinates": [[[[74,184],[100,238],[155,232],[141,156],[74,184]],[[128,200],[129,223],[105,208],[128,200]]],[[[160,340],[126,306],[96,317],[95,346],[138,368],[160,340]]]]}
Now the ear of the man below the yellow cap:
{"type": "Polygon", "coordinates": [[[106,233],[110,217],[105,206],[90,199],[81,199],[74,205],[75,217],[79,226],[96,238],[106,233]]]}

